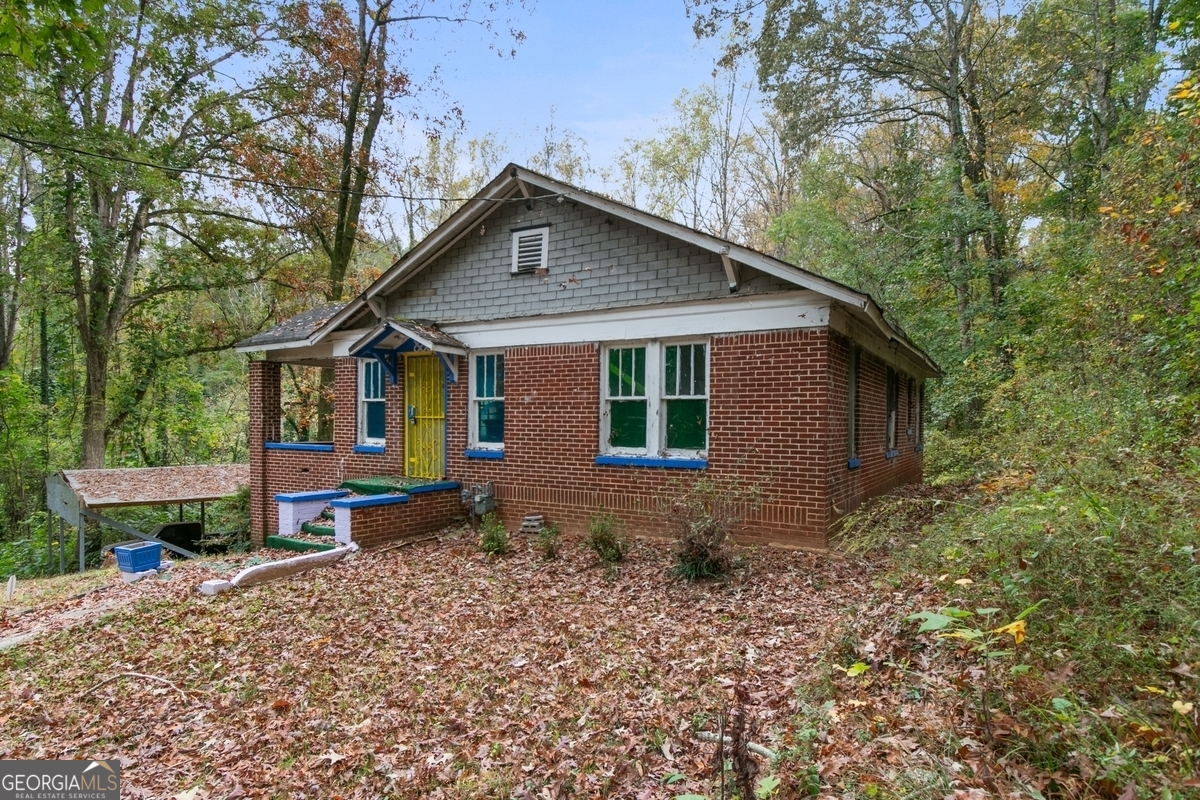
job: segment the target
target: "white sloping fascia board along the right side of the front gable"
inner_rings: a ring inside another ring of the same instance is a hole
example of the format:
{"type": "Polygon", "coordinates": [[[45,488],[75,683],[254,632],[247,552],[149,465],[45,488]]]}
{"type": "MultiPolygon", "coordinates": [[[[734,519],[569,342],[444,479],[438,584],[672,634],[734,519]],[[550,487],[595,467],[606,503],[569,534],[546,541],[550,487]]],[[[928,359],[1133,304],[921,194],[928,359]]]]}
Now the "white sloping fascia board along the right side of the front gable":
{"type": "Polygon", "coordinates": [[[671,222],[670,219],[656,217],[653,213],[646,213],[644,211],[638,211],[637,209],[632,209],[628,205],[614,203],[596,194],[592,194],[590,192],[582,192],[564,184],[546,181],[546,179],[540,175],[527,173],[521,168],[517,168],[517,174],[522,180],[557,194],[562,194],[569,200],[582,203],[583,205],[589,205],[594,209],[600,209],[607,213],[629,219],[630,222],[649,228],[650,230],[679,239],[702,249],[727,255],[734,261],[739,261],[746,266],[752,266],[761,272],[773,275],[781,281],[794,283],[798,287],[820,291],[833,300],[838,300],[851,306],[858,306],[859,308],[866,308],[866,305],[870,302],[866,295],[851,291],[845,287],[838,285],[832,281],[826,281],[824,278],[810,272],[800,272],[796,267],[788,266],[782,261],[776,261],[775,259],[763,255],[762,253],[756,253],[748,247],[727,242],[722,239],[718,239],[716,236],[702,234],[698,230],[692,230],[691,228],[671,222]]]}

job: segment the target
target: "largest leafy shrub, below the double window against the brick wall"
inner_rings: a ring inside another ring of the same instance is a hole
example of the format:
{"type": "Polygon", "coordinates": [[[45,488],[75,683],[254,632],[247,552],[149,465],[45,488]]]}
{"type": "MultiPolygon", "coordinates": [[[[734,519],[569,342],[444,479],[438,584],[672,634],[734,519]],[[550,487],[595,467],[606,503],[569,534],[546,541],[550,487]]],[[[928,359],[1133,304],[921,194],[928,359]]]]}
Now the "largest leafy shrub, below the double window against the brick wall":
{"type": "Polygon", "coordinates": [[[760,505],[762,489],[742,486],[736,477],[698,477],[668,486],[656,513],[674,542],[671,572],[685,581],[727,575],[733,567],[730,534],[760,505]]]}

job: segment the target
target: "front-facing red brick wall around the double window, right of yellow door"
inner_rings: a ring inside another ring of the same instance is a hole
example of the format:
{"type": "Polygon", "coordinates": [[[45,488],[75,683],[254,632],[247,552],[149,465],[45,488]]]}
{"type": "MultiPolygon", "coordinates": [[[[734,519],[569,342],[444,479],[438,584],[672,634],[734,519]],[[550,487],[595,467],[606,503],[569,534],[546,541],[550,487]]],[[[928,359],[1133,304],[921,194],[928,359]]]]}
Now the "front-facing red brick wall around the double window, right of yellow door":
{"type": "MultiPolygon", "coordinates": [[[[824,330],[712,339],[709,467],[764,488],[766,503],[740,539],[823,547],[827,384],[824,330]]],[[[600,452],[600,348],[511,348],[504,356],[504,459],[462,456],[467,443],[466,360],[450,389],[449,471],[463,485],[494,481],[511,528],[541,513],[582,531],[601,506],[632,533],[655,534],[647,516],[658,493],[695,480],[680,469],[596,465],[600,452]]]]}

